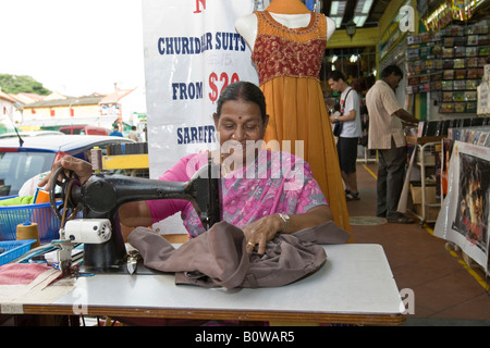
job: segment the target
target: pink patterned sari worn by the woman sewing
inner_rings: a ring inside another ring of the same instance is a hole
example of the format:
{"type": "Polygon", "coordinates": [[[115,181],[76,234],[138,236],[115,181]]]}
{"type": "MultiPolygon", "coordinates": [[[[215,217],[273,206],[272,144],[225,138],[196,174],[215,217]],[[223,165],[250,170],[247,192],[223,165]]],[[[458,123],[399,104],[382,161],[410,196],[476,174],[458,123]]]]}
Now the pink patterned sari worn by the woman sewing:
{"type": "MultiPolygon", "coordinates": [[[[207,163],[207,153],[182,158],[160,181],[187,182],[207,163]]],[[[181,212],[191,238],[205,232],[193,206],[185,200],[147,201],[154,223],[181,212]]],[[[327,200],[309,164],[289,152],[260,150],[257,159],[222,181],[223,220],[242,227],[275,213],[301,214],[327,200]]]]}

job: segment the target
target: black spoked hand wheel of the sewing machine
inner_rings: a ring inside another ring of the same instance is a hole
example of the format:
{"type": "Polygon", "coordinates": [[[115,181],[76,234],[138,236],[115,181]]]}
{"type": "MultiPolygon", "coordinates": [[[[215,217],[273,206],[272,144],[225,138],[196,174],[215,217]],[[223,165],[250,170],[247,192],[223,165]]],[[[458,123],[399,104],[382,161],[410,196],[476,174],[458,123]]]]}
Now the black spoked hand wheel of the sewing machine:
{"type": "Polygon", "coordinates": [[[52,211],[60,220],[63,220],[63,209],[66,209],[64,221],[73,219],[77,213],[77,204],[76,202],[73,202],[70,197],[71,189],[74,185],[78,187],[82,186],[78,176],[73,171],[69,171],[69,174],[66,174],[65,169],[62,166],[60,166],[50,178],[49,203],[52,211]],[[69,194],[66,195],[66,192],[69,194]],[[57,204],[58,199],[61,199],[61,204],[57,204]]]}

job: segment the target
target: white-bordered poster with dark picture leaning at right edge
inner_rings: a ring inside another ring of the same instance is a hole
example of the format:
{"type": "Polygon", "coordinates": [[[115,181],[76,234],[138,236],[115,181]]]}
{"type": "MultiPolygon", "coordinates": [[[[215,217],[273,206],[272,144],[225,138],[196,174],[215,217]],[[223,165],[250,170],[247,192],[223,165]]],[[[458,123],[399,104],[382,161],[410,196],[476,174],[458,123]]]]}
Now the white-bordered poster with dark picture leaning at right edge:
{"type": "Polygon", "coordinates": [[[488,270],[490,148],[455,141],[449,164],[448,195],[434,236],[457,245],[488,270]]]}

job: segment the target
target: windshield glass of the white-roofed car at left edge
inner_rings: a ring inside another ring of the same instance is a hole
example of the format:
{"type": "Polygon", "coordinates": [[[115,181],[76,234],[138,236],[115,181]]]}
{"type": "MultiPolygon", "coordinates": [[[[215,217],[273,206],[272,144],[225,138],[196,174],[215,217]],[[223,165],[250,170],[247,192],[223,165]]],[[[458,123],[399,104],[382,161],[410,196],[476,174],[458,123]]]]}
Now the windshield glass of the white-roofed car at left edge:
{"type": "Polygon", "coordinates": [[[17,195],[25,182],[51,169],[53,152],[1,152],[0,196],[17,195]]]}

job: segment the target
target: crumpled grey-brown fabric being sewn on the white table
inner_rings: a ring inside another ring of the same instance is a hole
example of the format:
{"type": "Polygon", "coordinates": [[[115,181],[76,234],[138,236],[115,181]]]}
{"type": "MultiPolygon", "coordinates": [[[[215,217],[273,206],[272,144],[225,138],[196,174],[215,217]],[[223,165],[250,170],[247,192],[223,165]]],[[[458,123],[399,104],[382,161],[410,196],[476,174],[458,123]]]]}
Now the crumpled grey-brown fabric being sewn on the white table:
{"type": "Polygon", "coordinates": [[[175,273],[176,284],[201,287],[274,287],[317,271],[327,260],[319,244],[344,244],[350,234],[328,222],[293,234],[278,234],[266,253],[246,252],[245,236],[226,222],[175,249],[150,228],[135,228],[128,243],[147,268],[175,273]]]}

